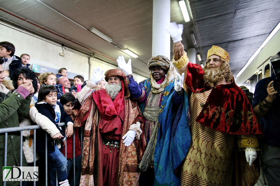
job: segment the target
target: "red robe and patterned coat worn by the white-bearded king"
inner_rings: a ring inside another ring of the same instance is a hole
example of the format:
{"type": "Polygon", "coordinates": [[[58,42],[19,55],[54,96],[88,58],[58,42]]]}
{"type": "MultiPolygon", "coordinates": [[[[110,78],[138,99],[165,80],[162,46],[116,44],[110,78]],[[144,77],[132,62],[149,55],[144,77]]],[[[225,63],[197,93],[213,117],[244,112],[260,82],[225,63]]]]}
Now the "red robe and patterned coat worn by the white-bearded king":
{"type": "Polygon", "coordinates": [[[74,109],[74,126],[85,126],[80,185],[138,185],[138,164],[144,152],[142,135],[126,147],[122,136],[129,127],[141,123],[137,102],[122,91],[112,101],[105,89],[94,91],[82,107],[74,109]],[[123,121],[123,122],[122,122],[123,121]],[[120,141],[119,148],[102,144],[102,139],[120,141]]]}

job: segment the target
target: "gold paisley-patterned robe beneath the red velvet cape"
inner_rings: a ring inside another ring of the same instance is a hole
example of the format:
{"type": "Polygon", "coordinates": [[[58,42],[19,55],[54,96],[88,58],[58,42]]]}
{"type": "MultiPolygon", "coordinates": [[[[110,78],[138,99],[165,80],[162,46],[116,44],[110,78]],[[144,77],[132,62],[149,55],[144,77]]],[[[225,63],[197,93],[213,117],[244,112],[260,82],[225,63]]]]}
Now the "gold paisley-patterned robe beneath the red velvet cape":
{"type": "MultiPolygon", "coordinates": [[[[185,73],[185,77],[188,62],[185,52],[178,61],[173,60],[179,73],[185,73]]],[[[185,83],[184,88],[187,91],[185,83]]],[[[238,152],[237,149],[258,149],[256,136],[226,134],[195,121],[212,90],[213,88],[201,93],[192,93],[189,99],[192,141],[182,166],[181,185],[254,185],[259,178],[259,167],[250,167],[245,160],[244,151],[238,152]]]]}

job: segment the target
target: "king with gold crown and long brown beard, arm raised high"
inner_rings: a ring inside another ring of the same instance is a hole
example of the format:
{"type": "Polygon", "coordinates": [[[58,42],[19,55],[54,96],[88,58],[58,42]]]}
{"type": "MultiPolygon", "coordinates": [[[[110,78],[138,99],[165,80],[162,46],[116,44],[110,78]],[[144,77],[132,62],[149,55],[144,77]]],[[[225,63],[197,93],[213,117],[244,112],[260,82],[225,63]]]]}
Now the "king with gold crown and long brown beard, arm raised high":
{"type": "Polygon", "coordinates": [[[173,64],[189,91],[192,141],[181,170],[181,185],[251,185],[259,179],[261,126],[235,84],[229,54],[212,46],[205,67],[189,62],[181,44],[183,25],[166,28],[173,39],[173,64]],[[182,75],[183,77],[183,75],[182,75]],[[255,161],[256,160],[256,161],[255,161]]]}

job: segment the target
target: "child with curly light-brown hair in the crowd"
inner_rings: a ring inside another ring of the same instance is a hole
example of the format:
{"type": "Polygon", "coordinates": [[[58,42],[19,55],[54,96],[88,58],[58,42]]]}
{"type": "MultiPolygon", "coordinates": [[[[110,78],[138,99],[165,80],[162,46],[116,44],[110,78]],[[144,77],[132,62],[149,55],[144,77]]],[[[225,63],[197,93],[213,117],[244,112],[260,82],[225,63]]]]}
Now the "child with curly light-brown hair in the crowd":
{"type": "Polygon", "coordinates": [[[65,92],[64,86],[62,86],[60,84],[56,84],[56,76],[54,73],[51,73],[51,72],[41,73],[39,76],[39,82],[40,82],[41,86],[45,86],[45,85],[54,86],[57,90],[57,99],[58,100],[65,92]]]}

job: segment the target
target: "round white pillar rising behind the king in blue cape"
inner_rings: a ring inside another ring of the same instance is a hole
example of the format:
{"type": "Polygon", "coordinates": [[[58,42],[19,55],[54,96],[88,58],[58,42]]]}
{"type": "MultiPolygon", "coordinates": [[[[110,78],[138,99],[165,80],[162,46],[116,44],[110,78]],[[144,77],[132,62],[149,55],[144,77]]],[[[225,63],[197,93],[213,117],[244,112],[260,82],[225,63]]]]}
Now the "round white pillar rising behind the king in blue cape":
{"type": "Polygon", "coordinates": [[[170,0],[153,0],[152,56],[170,59],[170,35],[165,27],[170,24],[170,0]]]}

